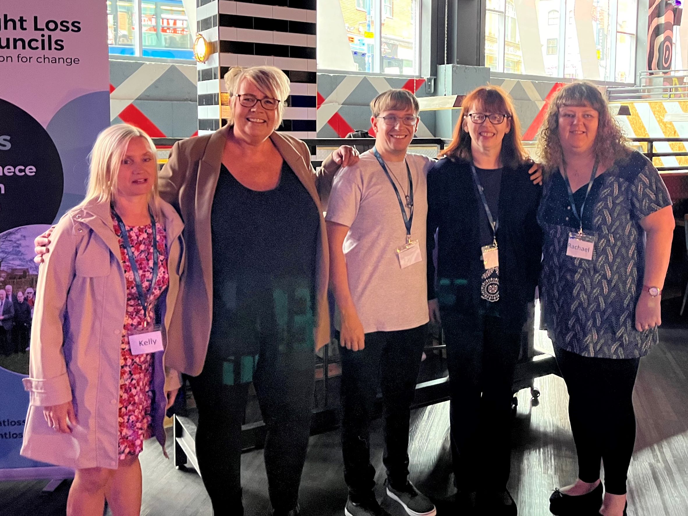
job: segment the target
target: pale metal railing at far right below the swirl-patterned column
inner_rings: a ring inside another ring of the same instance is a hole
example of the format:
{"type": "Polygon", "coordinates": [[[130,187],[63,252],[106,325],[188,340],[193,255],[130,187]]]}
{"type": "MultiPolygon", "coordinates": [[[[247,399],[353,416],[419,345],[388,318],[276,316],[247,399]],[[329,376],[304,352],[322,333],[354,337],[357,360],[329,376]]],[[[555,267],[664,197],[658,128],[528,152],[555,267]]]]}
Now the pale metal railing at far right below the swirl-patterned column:
{"type": "Polygon", "coordinates": [[[688,69],[643,70],[633,86],[608,87],[610,102],[688,98],[688,69]]]}

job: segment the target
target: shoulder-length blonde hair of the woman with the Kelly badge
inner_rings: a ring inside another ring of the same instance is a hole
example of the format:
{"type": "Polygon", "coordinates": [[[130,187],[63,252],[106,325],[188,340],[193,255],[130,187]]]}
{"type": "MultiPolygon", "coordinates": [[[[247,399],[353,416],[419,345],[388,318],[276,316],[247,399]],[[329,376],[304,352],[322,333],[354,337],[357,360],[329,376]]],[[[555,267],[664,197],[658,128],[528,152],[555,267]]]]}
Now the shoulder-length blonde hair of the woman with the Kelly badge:
{"type": "MultiPolygon", "coordinates": [[[[133,125],[111,125],[101,131],[96,138],[93,150],[89,154],[90,167],[86,197],[78,207],[83,207],[92,201],[116,204],[117,176],[120,171],[120,164],[122,164],[122,160],[127,154],[129,142],[133,138],[143,138],[146,141],[157,169],[158,157],[155,144],[153,144],[150,136],[133,125]]],[[[148,200],[148,205],[155,219],[160,217],[158,198],[158,174],[155,174],[153,188],[148,200]]]]}

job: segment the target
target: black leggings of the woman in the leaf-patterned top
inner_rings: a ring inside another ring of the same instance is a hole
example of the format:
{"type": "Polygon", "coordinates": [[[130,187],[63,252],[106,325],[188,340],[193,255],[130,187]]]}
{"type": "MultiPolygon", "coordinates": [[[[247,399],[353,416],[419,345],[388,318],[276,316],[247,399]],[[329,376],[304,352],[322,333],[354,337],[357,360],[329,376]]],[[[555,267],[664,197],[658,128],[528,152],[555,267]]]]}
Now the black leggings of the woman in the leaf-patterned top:
{"type": "Polygon", "coordinates": [[[568,388],[578,477],[596,482],[603,461],[605,490],[624,495],[636,441],[632,396],[640,358],[590,358],[557,350],[557,363],[568,388]]]}

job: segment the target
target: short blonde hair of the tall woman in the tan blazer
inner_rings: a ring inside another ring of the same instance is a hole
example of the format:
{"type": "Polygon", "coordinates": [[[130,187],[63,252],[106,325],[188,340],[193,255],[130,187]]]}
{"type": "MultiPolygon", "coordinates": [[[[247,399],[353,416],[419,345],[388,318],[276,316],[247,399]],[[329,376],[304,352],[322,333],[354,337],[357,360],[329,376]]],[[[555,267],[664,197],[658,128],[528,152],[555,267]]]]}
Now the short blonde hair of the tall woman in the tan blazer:
{"type": "Polygon", "coordinates": [[[229,117],[227,118],[227,123],[234,125],[234,103],[238,100],[235,100],[234,97],[239,94],[239,86],[244,79],[248,79],[255,84],[266,97],[279,100],[279,104],[277,104],[277,120],[275,121],[275,129],[277,129],[282,123],[284,108],[286,107],[291,88],[289,78],[281,69],[267,65],[248,68],[233,66],[224,74],[224,83],[229,94],[229,117]]]}

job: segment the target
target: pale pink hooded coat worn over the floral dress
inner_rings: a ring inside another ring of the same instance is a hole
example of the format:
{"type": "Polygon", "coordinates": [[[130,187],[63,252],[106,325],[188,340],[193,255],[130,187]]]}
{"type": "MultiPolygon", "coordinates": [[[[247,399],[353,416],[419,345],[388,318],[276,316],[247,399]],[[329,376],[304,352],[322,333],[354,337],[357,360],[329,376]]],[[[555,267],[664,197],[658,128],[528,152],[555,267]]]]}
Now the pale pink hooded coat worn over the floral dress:
{"type": "MultiPolygon", "coordinates": [[[[169,327],[183,272],[184,224],[172,206],[160,204],[169,286],[158,303],[169,327]]],[[[29,377],[23,380],[30,406],[21,455],[73,469],[115,469],[127,283],[109,203],[89,202],[67,212],[50,239],[36,287],[29,377]],[[70,400],[78,425],[72,433],[58,433],[45,422],[43,407],[70,400]]],[[[179,344],[168,339],[169,347],[179,344]]],[[[165,388],[180,385],[178,373],[165,374],[164,354],[153,355],[151,407],[153,435],[163,447],[165,388]]]]}

